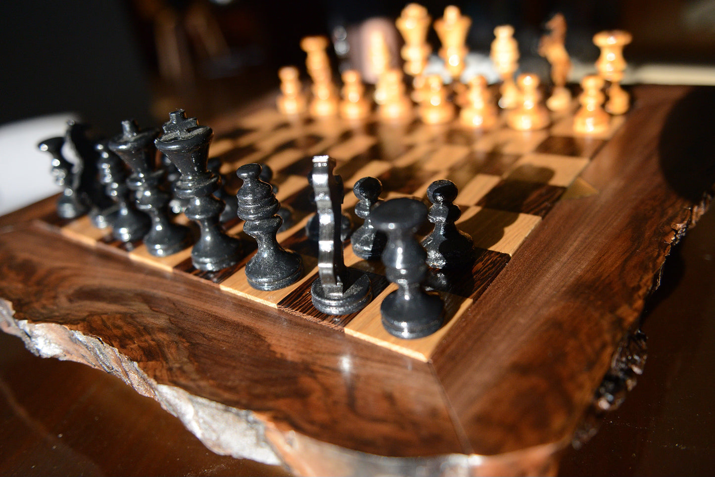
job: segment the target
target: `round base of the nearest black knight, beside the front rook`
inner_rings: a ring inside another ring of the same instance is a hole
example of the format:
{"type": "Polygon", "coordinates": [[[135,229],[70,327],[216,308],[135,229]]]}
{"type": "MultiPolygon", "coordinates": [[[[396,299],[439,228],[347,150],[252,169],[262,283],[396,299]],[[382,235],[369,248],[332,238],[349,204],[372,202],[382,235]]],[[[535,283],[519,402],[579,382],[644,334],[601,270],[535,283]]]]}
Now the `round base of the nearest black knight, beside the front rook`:
{"type": "Polygon", "coordinates": [[[347,289],[339,296],[332,296],[325,291],[320,278],[316,278],[310,287],[310,298],[318,311],[327,315],[349,315],[362,310],[373,298],[373,287],[366,273],[347,268],[347,289]]]}

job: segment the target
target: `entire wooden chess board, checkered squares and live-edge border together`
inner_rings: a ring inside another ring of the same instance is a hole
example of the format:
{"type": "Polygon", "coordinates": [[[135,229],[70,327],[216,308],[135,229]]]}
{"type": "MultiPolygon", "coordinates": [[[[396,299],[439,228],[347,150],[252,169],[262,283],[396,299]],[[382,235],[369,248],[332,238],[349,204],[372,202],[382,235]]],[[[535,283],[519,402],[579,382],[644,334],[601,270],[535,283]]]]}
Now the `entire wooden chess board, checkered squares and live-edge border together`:
{"type": "MultiPolygon", "coordinates": [[[[4,221],[26,225],[2,234],[0,297],[15,313],[3,327],[38,351],[34,333],[57,332],[38,326],[59,325],[73,344],[55,336],[65,350],[55,356],[104,368],[160,402],[157,383],[250,413],[260,439],[297,472],[373,465],[373,455],[433,456],[442,465],[445,456],[473,454],[493,457],[483,461],[497,466],[482,467],[488,472],[551,472],[636,325],[670,244],[703,210],[664,174],[673,148],[663,131],[687,130],[678,105],[691,91],[634,93],[633,111],[601,136],[574,134],[574,109],[527,132],[294,121],[270,107],[226,116],[207,124],[216,132],[210,154],[230,176],[252,162],[275,172],[277,198],[294,219],[278,239],[301,254],[300,281],[257,291],[242,271],[250,256],[200,272],[189,249],[154,257],[89,219],[57,219],[45,201],[4,221]],[[337,160],[343,209],[356,224],[351,189],[364,176],[383,182],[383,199],[425,199],[436,179],[458,186],[458,226],[478,258],[468,272],[432,274],[448,310],[440,331],[388,335],[379,305],[393,285],[349,243],[346,264],[370,273],[375,298],[349,316],[312,308],[317,248],[305,224],[314,212],[306,176],[315,154],[337,160]],[[88,357],[97,348],[109,361],[88,357]]],[[[227,229],[250,243],[240,221],[227,229]]],[[[459,465],[472,468],[466,462],[459,465]]]]}

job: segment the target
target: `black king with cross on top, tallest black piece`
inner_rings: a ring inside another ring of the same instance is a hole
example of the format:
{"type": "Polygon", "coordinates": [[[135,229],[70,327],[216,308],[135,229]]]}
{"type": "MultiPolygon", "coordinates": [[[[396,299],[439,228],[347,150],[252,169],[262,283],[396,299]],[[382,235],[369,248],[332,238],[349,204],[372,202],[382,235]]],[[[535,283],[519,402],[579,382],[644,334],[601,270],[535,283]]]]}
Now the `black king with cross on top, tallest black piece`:
{"type": "Polygon", "coordinates": [[[225,204],[213,196],[220,186],[219,178],[207,169],[214,131],[199,126],[196,118],[187,118],[183,109],[169,113],[162,129],[164,134],[154,144],[181,172],[174,191],[178,199],[189,199],[184,214],[200,229],[191,251],[194,267],[217,271],[235,265],[243,256],[241,241],[221,229],[219,216],[225,204]]]}

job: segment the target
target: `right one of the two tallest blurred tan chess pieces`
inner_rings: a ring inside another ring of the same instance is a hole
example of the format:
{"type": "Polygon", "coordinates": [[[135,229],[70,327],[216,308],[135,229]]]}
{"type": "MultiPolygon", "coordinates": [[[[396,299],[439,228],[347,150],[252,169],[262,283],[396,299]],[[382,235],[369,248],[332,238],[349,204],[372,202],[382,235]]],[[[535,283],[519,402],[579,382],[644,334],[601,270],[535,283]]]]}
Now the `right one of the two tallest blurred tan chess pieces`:
{"type": "Polygon", "coordinates": [[[464,71],[464,60],[469,52],[466,40],[471,24],[472,20],[454,5],[447,6],[444,16],[435,20],[435,31],[442,42],[440,56],[454,81],[459,81],[464,71]]]}

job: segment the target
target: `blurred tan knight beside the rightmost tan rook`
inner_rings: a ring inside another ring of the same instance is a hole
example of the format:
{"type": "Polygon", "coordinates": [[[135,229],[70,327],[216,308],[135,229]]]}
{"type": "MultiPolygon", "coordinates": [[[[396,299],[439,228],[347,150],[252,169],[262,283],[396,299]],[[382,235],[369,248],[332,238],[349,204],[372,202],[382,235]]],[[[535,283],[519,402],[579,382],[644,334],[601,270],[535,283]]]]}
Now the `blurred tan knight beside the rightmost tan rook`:
{"type": "Polygon", "coordinates": [[[571,72],[571,59],[566,51],[566,19],[562,14],[556,14],[548,21],[548,34],[541,37],[538,44],[538,54],[551,64],[551,81],[553,91],[546,100],[546,107],[551,111],[563,111],[571,105],[571,91],[566,89],[568,74],[571,72]]]}

